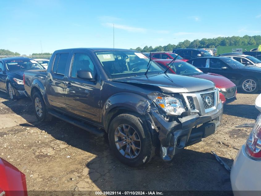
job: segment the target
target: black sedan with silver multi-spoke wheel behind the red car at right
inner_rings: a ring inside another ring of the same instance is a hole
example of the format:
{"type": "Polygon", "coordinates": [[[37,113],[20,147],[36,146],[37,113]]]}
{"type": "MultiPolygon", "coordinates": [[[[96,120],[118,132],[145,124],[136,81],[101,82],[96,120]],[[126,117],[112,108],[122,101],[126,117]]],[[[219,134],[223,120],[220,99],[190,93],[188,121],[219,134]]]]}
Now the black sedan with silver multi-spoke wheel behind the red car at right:
{"type": "Polygon", "coordinates": [[[228,57],[201,57],[187,61],[203,72],[225,76],[245,93],[256,93],[261,87],[261,68],[245,66],[228,57]]]}

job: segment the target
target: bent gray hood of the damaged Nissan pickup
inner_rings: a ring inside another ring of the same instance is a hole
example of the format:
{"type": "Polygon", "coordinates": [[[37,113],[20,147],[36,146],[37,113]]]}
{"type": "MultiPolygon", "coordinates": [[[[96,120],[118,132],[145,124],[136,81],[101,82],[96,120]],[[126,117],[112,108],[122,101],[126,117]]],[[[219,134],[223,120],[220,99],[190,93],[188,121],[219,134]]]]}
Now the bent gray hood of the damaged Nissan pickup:
{"type": "Polygon", "coordinates": [[[158,87],[165,93],[188,93],[215,87],[214,83],[209,80],[175,74],[136,76],[113,81],[135,86],[158,87]]]}

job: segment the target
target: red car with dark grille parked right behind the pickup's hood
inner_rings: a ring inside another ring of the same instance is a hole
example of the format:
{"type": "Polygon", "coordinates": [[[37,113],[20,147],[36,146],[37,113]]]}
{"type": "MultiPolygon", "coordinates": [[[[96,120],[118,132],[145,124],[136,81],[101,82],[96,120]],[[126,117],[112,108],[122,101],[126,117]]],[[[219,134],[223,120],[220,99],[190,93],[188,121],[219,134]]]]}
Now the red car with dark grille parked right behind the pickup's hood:
{"type": "MultiPolygon", "coordinates": [[[[169,67],[168,63],[170,63],[172,60],[156,59],[154,61],[158,63],[162,68],[166,69],[169,67]]],[[[168,69],[168,73],[192,76],[213,81],[216,87],[219,89],[219,98],[221,99],[222,103],[230,103],[236,99],[236,85],[224,76],[215,73],[202,72],[193,65],[181,60],[175,60],[171,67],[168,69]]]]}

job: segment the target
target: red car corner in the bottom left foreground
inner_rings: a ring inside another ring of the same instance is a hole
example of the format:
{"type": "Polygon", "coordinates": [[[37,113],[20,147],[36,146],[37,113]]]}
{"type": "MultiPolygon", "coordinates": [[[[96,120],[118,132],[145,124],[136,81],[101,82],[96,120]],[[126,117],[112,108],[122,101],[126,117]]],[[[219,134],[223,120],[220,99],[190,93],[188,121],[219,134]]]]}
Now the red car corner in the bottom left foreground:
{"type": "Polygon", "coordinates": [[[2,158],[0,158],[0,195],[27,196],[25,175],[2,158]]]}

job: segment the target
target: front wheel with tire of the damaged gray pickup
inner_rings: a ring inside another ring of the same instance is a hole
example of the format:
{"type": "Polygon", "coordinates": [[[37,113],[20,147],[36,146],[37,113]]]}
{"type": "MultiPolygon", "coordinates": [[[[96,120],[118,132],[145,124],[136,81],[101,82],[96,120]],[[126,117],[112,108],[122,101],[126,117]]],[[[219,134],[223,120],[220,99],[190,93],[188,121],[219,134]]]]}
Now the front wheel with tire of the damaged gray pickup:
{"type": "Polygon", "coordinates": [[[148,163],[153,157],[155,148],[149,130],[135,114],[116,116],[108,133],[112,151],[122,163],[137,167],[148,163]]]}

